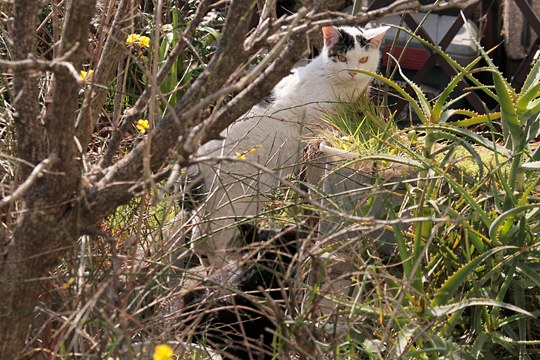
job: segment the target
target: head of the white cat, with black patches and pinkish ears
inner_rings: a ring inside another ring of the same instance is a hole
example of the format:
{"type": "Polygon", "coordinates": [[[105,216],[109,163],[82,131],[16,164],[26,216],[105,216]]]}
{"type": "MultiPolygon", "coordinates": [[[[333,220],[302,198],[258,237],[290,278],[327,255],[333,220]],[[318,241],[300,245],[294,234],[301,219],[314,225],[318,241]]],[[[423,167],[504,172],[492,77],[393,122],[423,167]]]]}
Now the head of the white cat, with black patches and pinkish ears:
{"type": "Polygon", "coordinates": [[[388,26],[362,29],[352,26],[323,27],[323,59],[332,75],[342,81],[365,78],[351,69],[377,71],[380,45],[388,26]]]}

